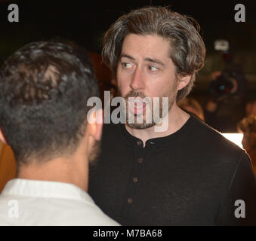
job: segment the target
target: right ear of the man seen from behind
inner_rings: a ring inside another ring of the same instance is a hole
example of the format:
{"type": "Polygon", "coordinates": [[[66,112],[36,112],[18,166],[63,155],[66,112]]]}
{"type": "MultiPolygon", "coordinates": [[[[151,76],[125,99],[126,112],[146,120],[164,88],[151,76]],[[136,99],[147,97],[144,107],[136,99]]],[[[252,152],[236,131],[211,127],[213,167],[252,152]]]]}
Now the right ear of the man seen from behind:
{"type": "Polygon", "coordinates": [[[103,109],[91,111],[88,115],[87,130],[90,136],[93,136],[95,140],[100,141],[102,127],[103,127],[103,109]]]}

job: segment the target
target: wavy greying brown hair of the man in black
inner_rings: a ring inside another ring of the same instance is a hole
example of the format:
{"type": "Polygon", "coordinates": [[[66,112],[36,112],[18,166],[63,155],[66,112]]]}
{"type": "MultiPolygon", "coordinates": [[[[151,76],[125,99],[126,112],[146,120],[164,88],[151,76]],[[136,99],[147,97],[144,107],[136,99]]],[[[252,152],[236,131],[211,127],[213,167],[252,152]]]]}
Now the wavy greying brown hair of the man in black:
{"type": "Polygon", "coordinates": [[[167,7],[145,7],[116,20],[103,37],[104,62],[116,76],[122,42],[128,34],[159,35],[171,45],[170,57],[179,75],[192,75],[190,83],[177,93],[177,101],[192,90],[196,72],[204,66],[205,44],[199,35],[199,24],[192,17],[168,10],[167,7]]]}

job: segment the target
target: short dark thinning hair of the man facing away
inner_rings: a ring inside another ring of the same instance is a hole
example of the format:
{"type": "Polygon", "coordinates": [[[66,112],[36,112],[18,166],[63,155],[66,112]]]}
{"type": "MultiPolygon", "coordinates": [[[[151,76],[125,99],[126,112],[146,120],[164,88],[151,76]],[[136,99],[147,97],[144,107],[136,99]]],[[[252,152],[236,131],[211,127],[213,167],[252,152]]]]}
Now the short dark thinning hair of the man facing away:
{"type": "Polygon", "coordinates": [[[91,96],[99,96],[82,47],[27,44],[0,68],[0,125],[17,163],[72,154],[85,132],[91,96]]]}

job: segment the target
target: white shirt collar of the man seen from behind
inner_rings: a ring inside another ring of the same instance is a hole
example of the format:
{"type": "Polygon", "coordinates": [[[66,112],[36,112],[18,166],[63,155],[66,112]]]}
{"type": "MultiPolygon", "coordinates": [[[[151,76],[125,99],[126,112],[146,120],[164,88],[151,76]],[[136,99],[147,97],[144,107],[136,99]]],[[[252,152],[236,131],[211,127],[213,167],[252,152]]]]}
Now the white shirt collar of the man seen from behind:
{"type": "Polygon", "coordinates": [[[80,200],[94,203],[88,193],[66,182],[50,182],[23,178],[11,179],[1,195],[20,197],[47,197],[80,200]]]}

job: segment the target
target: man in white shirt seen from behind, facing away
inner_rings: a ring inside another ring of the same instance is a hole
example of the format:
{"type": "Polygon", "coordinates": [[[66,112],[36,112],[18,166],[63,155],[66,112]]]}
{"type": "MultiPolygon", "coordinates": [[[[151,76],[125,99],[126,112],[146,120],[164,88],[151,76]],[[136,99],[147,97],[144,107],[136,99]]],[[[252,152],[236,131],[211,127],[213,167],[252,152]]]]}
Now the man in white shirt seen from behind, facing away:
{"type": "Polygon", "coordinates": [[[102,120],[96,110],[87,116],[99,90],[85,51],[27,44],[1,67],[0,89],[0,139],[17,161],[0,195],[0,225],[117,225],[87,193],[102,120]]]}

